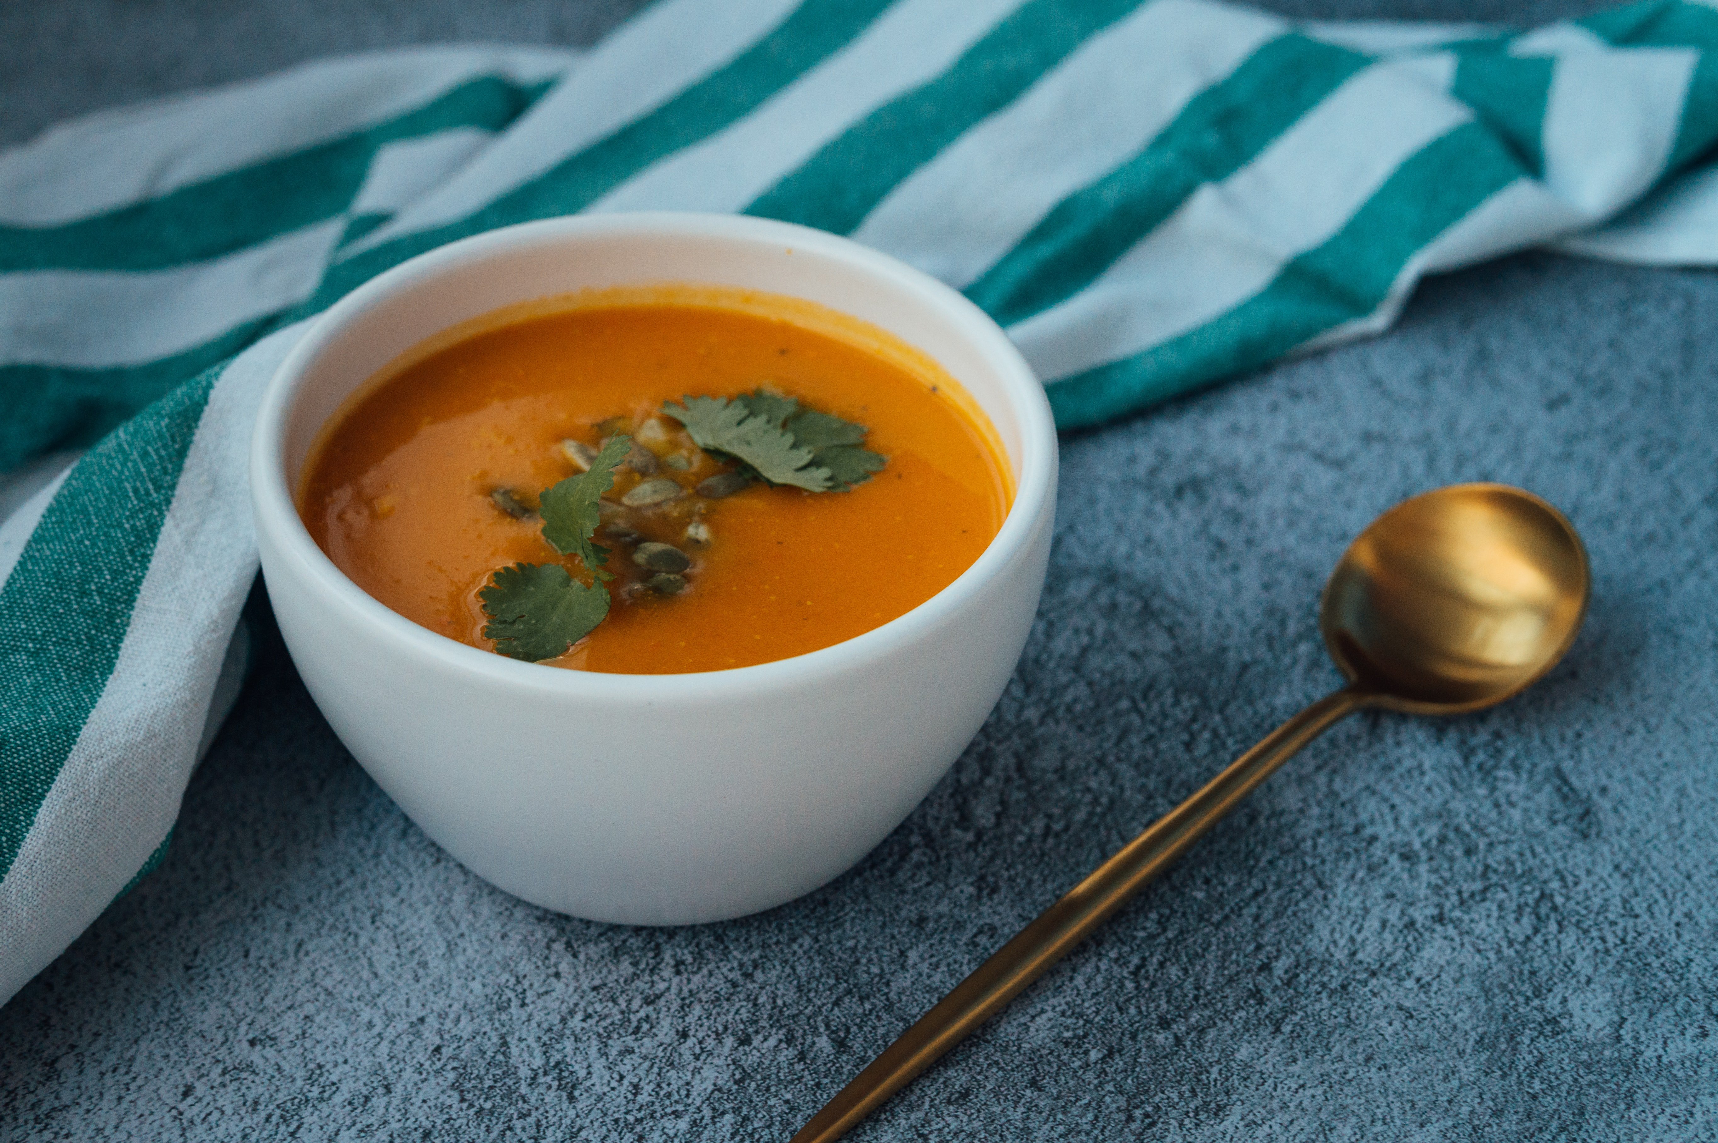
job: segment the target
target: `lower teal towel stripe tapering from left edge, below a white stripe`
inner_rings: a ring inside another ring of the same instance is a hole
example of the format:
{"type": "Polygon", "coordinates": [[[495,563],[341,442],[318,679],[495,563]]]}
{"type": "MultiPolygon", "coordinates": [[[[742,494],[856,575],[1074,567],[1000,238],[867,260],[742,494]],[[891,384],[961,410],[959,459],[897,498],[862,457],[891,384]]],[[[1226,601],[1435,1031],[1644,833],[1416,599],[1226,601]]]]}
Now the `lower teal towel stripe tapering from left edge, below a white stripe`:
{"type": "Polygon", "coordinates": [[[186,378],[227,360],[273,326],[259,318],[144,366],[74,369],[0,366],[0,472],[57,448],[79,448],[160,400],[186,378]]]}

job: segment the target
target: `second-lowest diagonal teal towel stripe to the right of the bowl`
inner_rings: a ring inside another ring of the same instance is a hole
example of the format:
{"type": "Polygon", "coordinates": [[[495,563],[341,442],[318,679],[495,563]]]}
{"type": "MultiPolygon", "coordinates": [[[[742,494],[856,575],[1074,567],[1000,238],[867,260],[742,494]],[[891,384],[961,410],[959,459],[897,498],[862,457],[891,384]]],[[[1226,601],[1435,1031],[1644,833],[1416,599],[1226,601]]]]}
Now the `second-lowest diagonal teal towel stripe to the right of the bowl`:
{"type": "Polygon", "coordinates": [[[1199,184],[1240,170],[1369,62],[1306,36],[1270,41],[1139,154],[1058,203],[966,295],[1007,326],[1079,293],[1199,184]]]}

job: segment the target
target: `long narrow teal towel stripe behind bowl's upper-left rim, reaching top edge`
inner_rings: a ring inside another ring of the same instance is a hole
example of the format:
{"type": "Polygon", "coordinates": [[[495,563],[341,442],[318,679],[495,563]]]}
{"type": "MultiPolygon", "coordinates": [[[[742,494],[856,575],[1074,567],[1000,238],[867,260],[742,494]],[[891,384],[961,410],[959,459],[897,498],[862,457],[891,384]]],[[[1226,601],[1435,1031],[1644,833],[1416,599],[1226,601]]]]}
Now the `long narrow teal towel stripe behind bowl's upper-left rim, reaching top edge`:
{"type": "Polygon", "coordinates": [[[807,0],[732,62],[529,184],[457,223],[405,235],[337,263],[316,297],[301,305],[294,316],[325,309],[383,269],[454,239],[584,209],[651,163],[754,112],[765,100],[854,39],[890,2],[807,0]]]}

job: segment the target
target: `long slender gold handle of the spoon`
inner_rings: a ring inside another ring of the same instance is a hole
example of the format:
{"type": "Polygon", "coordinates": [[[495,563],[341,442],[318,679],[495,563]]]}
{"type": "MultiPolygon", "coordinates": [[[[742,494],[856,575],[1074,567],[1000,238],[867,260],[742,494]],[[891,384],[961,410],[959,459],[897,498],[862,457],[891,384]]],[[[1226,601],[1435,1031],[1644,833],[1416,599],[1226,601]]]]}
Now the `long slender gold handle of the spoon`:
{"type": "Polygon", "coordinates": [[[1359,711],[1368,695],[1345,686],[1326,695],[1273,729],[1252,750],[1204,784],[1199,793],[1160,817],[1146,832],[1129,841],[1115,856],[1074,886],[1060,901],[1038,915],[1008,944],[1002,946],[936,1007],[907,1028],[899,1040],[842,1088],[792,1143],[830,1143],[845,1134],[883,1100],[907,1086],[914,1076],[960,1043],[969,1031],[991,1018],[1026,985],[1038,980],[1069,951],[1101,925],[1110,913],[1139,892],[1211,829],[1271,771],[1313,741],[1330,724],[1359,711]]]}

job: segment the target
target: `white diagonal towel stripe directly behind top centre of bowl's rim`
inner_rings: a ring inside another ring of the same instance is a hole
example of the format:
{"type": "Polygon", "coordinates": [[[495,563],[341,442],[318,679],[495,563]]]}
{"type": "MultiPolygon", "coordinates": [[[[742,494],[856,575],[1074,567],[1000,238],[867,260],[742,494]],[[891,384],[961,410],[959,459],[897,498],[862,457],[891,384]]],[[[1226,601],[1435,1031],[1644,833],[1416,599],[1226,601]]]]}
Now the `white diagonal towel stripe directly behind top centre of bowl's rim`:
{"type": "Polygon", "coordinates": [[[852,122],[947,70],[1020,0],[900,0],[756,112],[641,172],[593,211],[737,211],[852,122]]]}

